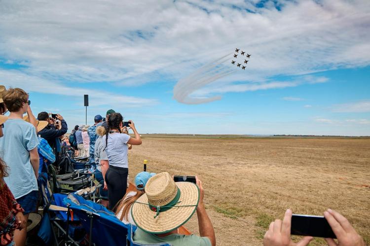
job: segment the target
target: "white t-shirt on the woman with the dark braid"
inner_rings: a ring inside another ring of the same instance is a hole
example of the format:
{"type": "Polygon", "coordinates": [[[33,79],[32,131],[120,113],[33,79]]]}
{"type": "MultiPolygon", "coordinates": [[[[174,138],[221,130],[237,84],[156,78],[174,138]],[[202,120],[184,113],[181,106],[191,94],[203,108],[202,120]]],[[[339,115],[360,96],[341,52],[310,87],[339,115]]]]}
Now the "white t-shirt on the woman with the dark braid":
{"type": "MultiPolygon", "coordinates": [[[[106,137],[107,135],[104,135],[102,138],[104,147],[106,137]]],[[[130,140],[130,136],[125,133],[110,133],[108,135],[106,154],[111,166],[128,168],[128,140],[130,140]]]]}

